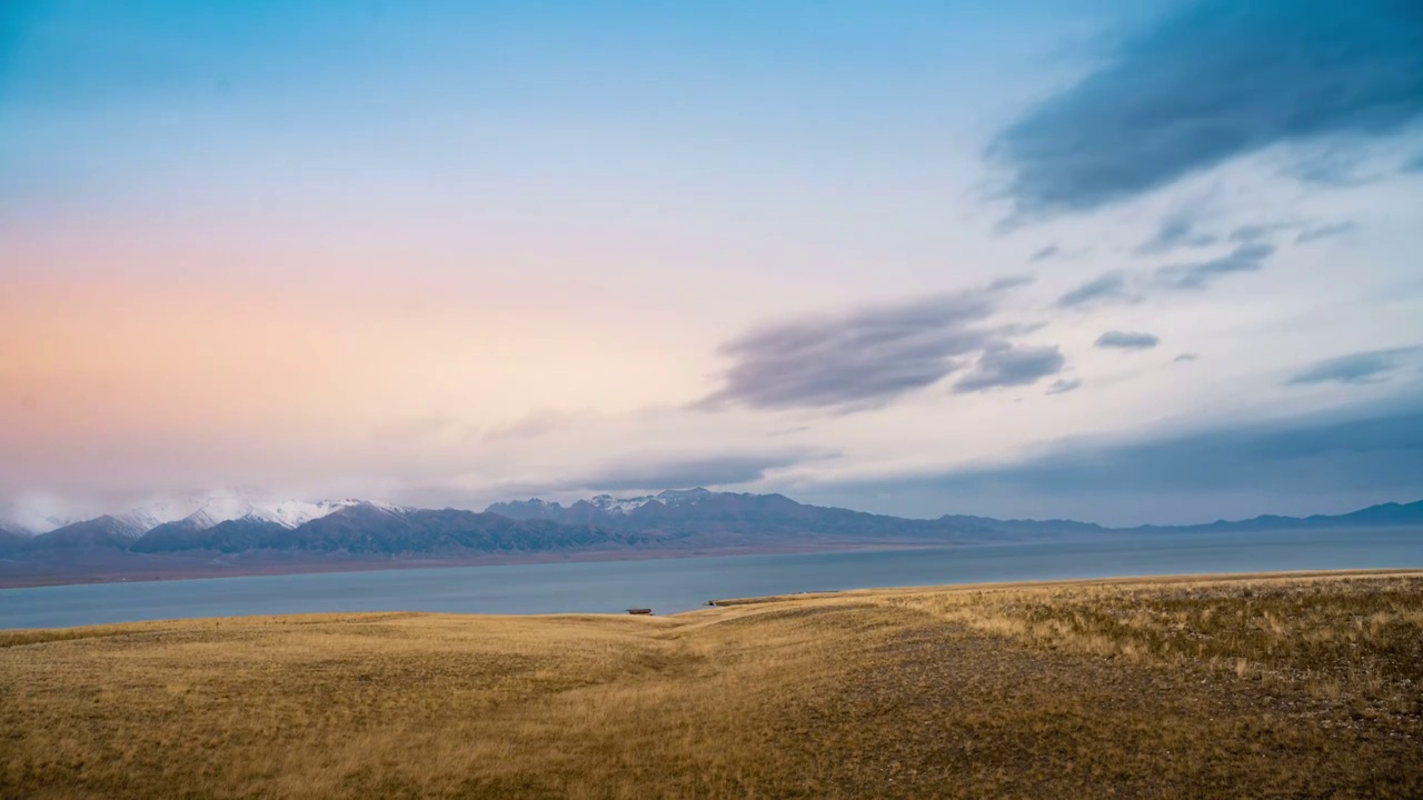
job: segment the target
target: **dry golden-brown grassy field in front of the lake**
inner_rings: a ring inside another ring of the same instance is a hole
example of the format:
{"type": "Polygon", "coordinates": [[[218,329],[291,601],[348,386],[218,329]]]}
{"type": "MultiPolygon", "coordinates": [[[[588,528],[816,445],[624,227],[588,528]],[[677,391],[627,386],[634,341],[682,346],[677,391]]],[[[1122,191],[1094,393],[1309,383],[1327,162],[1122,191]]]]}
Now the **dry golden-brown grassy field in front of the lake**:
{"type": "Polygon", "coordinates": [[[4,797],[1423,796],[1423,575],[0,632],[4,797]]]}

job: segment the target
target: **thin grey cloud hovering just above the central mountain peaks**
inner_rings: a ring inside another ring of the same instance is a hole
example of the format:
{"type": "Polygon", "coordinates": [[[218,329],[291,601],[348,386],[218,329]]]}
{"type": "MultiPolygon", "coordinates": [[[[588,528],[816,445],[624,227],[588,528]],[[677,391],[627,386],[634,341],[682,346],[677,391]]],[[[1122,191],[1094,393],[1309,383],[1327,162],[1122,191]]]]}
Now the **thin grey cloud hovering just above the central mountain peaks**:
{"type": "Polygon", "coordinates": [[[625,463],[618,461],[599,467],[576,481],[569,481],[565,490],[629,491],[737,485],[758,481],[770,470],[778,470],[822,458],[827,454],[804,451],[768,454],[731,454],[704,458],[625,463]]]}

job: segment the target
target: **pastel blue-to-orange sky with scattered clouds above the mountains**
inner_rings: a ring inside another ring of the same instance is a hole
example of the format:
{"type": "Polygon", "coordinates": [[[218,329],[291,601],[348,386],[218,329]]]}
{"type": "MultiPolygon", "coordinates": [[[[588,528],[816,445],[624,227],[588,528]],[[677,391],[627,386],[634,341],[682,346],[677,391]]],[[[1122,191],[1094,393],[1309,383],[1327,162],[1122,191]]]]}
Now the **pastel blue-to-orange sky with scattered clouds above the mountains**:
{"type": "Polygon", "coordinates": [[[1412,0],[0,6],[0,517],[1423,498],[1412,0]]]}

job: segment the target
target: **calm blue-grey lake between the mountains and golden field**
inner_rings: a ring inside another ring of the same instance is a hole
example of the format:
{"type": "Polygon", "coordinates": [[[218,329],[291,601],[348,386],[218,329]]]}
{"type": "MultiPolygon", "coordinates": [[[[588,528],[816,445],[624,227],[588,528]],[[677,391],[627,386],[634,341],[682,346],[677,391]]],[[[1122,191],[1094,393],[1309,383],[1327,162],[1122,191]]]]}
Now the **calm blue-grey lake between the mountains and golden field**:
{"type": "Polygon", "coordinates": [[[1091,541],[451,567],[0,589],[0,628],[250,614],[687,611],[712,598],[1188,572],[1423,567],[1423,528],[1131,534],[1091,541]]]}

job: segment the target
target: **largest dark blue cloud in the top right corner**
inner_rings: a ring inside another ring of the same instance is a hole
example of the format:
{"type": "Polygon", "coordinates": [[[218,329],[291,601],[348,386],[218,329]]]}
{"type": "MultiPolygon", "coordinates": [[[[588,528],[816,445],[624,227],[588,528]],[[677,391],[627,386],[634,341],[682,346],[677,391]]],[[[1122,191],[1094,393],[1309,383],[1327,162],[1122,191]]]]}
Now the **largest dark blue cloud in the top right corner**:
{"type": "Polygon", "coordinates": [[[1015,216],[1087,211],[1268,145],[1423,114],[1413,0],[1202,0],[1000,131],[1015,216]]]}

